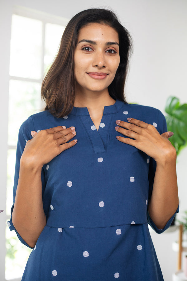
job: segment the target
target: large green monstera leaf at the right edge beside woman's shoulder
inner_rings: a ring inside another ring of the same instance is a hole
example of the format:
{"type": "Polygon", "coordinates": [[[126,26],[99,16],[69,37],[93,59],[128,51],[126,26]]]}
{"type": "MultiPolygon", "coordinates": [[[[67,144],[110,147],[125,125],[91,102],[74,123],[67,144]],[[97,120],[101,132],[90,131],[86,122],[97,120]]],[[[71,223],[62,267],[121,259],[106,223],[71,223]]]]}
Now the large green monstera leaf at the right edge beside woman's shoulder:
{"type": "Polygon", "coordinates": [[[165,116],[168,131],[174,132],[174,135],[169,138],[172,145],[177,151],[187,145],[187,104],[180,105],[180,101],[175,96],[170,96],[166,101],[165,116]]]}

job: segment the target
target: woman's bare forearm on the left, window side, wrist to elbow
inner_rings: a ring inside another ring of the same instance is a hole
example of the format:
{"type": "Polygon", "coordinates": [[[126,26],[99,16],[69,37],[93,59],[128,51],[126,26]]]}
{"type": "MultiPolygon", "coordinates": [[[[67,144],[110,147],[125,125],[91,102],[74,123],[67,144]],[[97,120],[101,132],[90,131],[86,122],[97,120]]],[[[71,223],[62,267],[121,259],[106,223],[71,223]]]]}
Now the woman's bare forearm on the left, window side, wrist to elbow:
{"type": "Polygon", "coordinates": [[[12,222],[17,232],[34,247],[46,225],[42,203],[41,168],[33,168],[21,159],[12,222]]]}

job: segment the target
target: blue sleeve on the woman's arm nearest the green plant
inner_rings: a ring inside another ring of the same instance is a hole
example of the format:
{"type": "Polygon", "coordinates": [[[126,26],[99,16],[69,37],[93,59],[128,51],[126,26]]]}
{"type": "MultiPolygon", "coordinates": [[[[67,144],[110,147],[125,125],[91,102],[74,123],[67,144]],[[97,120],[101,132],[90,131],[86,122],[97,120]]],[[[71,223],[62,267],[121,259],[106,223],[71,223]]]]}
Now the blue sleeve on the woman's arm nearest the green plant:
{"type": "MultiPolygon", "coordinates": [[[[157,118],[157,123],[156,123],[156,129],[160,134],[167,132],[167,124],[165,120],[165,116],[161,113],[161,111],[158,110],[158,118],[157,118]]],[[[150,159],[150,165],[149,165],[149,174],[148,174],[148,180],[149,180],[149,199],[151,198],[152,195],[152,190],[153,190],[153,183],[154,183],[154,178],[155,178],[155,171],[156,171],[156,161],[151,158],[150,159]]],[[[151,220],[148,210],[147,210],[147,222],[148,224],[157,232],[157,233],[162,233],[164,232],[172,223],[175,215],[179,212],[179,206],[175,212],[175,214],[168,220],[167,224],[163,229],[158,229],[154,222],[151,220]]]]}

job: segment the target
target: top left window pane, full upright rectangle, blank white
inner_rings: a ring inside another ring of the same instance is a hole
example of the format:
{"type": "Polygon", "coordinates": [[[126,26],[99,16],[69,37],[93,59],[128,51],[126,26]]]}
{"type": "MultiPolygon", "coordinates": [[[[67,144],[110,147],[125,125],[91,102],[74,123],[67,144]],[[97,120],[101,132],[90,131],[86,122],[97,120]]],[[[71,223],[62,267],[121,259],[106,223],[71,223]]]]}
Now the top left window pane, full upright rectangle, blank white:
{"type": "Polygon", "coordinates": [[[41,79],[42,22],[12,15],[10,75],[41,79]]]}

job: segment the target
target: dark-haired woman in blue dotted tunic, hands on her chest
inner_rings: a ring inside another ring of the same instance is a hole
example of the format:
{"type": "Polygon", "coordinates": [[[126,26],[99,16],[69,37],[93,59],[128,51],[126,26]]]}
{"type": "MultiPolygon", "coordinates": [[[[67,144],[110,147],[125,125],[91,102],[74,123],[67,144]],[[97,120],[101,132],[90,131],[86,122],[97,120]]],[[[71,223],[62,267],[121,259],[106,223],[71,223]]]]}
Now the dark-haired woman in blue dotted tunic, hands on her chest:
{"type": "Polygon", "coordinates": [[[176,151],[162,113],[124,99],[130,50],[105,9],[65,29],[46,110],[19,132],[9,226],[34,248],[22,280],[163,280],[147,222],[161,233],[178,212],[176,151]]]}

